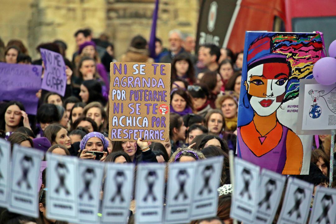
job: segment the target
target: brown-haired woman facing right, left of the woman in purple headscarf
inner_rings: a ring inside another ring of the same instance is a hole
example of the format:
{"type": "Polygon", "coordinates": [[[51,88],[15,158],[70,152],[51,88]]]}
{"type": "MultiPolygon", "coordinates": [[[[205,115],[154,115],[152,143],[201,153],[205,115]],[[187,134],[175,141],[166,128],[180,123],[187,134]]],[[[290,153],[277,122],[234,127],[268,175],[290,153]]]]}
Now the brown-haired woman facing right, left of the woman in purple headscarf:
{"type": "Polygon", "coordinates": [[[60,124],[51,124],[44,130],[44,137],[46,137],[51,145],[63,145],[68,150],[71,148],[71,141],[68,136],[68,131],[60,124]]]}

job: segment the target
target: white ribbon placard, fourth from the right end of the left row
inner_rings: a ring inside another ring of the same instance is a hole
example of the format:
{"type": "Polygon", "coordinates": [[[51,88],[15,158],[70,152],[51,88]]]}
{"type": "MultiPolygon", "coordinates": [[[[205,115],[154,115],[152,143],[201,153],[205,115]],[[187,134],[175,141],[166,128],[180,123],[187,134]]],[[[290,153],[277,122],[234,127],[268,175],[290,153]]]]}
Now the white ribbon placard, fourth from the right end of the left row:
{"type": "Polygon", "coordinates": [[[125,224],[130,215],[134,164],[109,163],[106,172],[101,223],[125,224]]]}

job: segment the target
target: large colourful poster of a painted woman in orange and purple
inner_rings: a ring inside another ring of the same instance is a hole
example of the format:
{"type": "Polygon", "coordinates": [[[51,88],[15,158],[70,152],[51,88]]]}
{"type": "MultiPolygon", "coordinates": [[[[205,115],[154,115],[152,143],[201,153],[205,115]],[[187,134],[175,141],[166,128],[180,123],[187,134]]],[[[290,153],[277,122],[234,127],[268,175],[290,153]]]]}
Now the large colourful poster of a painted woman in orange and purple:
{"type": "Polygon", "coordinates": [[[308,174],[312,136],[296,131],[299,80],[321,57],[319,33],[246,32],[237,155],[281,174],[308,174]]]}

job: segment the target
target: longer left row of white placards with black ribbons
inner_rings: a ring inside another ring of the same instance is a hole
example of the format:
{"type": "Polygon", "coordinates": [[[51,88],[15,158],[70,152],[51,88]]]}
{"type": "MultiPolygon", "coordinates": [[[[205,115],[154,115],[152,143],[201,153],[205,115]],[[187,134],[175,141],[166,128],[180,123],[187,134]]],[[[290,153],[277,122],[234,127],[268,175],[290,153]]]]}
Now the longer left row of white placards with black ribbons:
{"type": "MultiPolygon", "coordinates": [[[[38,217],[38,179],[44,153],[15,145],[10,154],[8,142],[0,140],[0,207],[38,217]]],[[[126,223],[133,198],[134,164],[51,153],[46,159],[47,218],[72,223],[126,223]]],[[[169,164],[167,182],[164,164],[138,164],[136,223],[188,223],[215,216],[222,163],[223,158],[217,157],[169,164]]]]}

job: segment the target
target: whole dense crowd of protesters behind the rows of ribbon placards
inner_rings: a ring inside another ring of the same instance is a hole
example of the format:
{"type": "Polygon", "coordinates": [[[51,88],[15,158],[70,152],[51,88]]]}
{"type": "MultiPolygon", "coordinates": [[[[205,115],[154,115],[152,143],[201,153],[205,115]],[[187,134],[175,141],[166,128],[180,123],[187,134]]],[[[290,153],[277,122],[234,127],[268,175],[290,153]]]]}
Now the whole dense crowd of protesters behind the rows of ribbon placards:
{"type": "MultiPolygon", "coordinates": [[[[204,44],[195,52],[195,38],[179,30],[172,30],[168,37],[162,38],[168,39],[169,46],[164,48],[162,40],[157,38],[154,58],[149,56],[148,42],[142,36],[133,37],[127,51],[121,58],[115,58],[114,45],[106,38],[94,39],[89,29],[75,32],[77,51],[73,53],[71,60],[66,58],[65,42],[54,40],[40,44],[36,48],[38,52],[40,48],[45,48],[64,56],[67,65],[65,96],[45,90],[38,91],[36,116],[27,115],[21,102],[2,102],[0,135],[11,145],[19,144],[45,152],[78,156],[80,159],[95,158],[95,155],[85,153],[86,151],[103,152],[100,161],[109,163],[169,164],[223,155],[223,170],[218,183],[220,196],[217,217],[193,223],[232,223],[229,216],[232,185],[228,152],[236,150],[243,52],[234,53],[214,44],[204,44]],[[108,138],[109,72],[112,61],[171,63],[168,142],[111,141],[108,138]],[[186,148],[187,146],[190,147],[186,148]],[[177,154],[180,157],[176,158],[177,154]]],[[[5,45],[0,39],[0,52],[0,61],[6,63],[43,66],[41,58],[32,60],[20,40],[10,40],[5,45]]],[[[333,150],[330,149],[331,136],[321,135],[319,139],[320,147],[312,149],[309,175],[297,178],[315,186],[327,186],[328,155],[333,150]]],[[[335,187],[335,183],[333,186],[335,187]]],[[[47,186],[42,186],[40,191],[39,219],[3,210],[0,223],[63,223],[45,217],[45,187],[47,186]]],[[[134,219],[130,217],[129,223],[132,222],[134,219]]]]}

